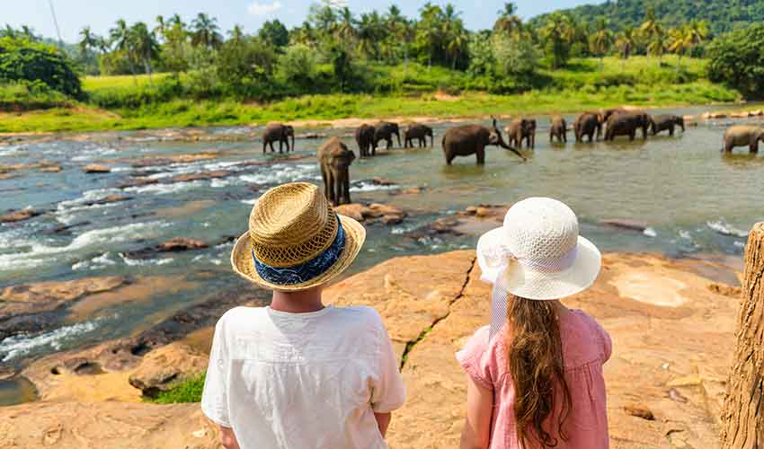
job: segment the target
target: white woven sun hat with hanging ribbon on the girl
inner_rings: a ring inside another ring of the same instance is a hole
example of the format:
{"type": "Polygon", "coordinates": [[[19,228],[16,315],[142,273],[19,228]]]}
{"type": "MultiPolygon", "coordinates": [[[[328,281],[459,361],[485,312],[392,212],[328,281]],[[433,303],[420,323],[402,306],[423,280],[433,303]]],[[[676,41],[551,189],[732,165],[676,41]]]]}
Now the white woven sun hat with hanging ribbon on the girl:
{"type": "Polygon", "coordinates": [[[502,227],[480,237],[477,263],[481,278],[493,283],[493,335],[506,319],[507,295],[537,301],[575,295],[597,279],[602,262],[597,247],[579,235],[570,207],[528,198],[510,208],[502,227]]]}

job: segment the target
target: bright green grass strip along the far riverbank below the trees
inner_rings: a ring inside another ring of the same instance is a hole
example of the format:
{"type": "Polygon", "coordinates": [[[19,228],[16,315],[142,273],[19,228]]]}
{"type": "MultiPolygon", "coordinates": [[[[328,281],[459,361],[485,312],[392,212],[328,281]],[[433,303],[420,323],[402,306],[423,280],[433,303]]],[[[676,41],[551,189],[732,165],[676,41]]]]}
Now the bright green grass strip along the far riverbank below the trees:
{"type": "MultiPolygon", "coordinates": [[[[469,84],[468,75],[443,67],[373,66],[373,76],[392,93],[304,95],[270,103],[235,100],[140,101],[132,108],[102,110],[89,104],[48,110],[0,113],[0,132],[95,131],[211,125],[264,124],[269,121],[381,119],[392,117],[470,118],[491,114],[554,114],[623,104],[650,107],[702,105],[742,100],[739,92],[704,79],[706,61],[676,57],[616,57],[573,59],[562,70],[541,70],[545,87],[511,95],[456,89],[469,84]],[[678,80],[677,77],[680,77],[678,80]],[[436,92],[449,92],[443,96],[436,92]]],[[[157,83],[165,74],[154,75],[157,83]]],[[[89,76],[84,90],[115,98],[155,89],[147,75],[89,76]]],[[[0,98],[3,87],[0,86],[0,98]]],[[[120,104],[119,101],[116,104],[120,104]]]]}

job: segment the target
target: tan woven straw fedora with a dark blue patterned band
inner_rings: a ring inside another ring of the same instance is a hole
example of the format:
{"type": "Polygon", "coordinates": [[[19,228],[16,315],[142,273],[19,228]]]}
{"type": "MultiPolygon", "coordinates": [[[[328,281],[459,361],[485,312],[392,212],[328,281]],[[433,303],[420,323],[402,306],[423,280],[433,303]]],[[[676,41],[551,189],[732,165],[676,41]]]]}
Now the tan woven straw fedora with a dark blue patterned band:
{"type": "Polygon", "coordinates": [[[292,182],[268,190],[255,203],[249,231],[236,241],[231,264],[255,284],[297,292],[342,273],[365,240],[363,226],[335,214],[315,185],[292,182]]]}

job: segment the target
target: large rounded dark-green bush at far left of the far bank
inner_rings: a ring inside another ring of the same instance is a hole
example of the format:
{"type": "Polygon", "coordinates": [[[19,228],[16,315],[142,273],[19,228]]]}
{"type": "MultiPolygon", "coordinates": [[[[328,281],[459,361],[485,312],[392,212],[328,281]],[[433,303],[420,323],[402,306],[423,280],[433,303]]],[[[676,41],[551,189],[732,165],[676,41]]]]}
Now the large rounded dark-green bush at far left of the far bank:
{"type": "Polygon", "coordinates": [[[43,86],[79,98],[82,86],[70,61],[56,48],[13,37],[0,38],[0,82],[26,83],[32,91],[43,86]]]}

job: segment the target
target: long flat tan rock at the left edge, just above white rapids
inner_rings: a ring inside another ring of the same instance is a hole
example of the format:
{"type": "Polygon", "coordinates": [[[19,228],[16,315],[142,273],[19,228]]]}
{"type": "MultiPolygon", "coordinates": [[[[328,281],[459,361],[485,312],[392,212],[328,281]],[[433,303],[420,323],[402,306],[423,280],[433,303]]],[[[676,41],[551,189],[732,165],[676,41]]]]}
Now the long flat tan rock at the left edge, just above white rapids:
{"type": "Polygon", "coordinates": [[[124,286],[124,277],[83,277],[69,281],[6,286],[0,294],[0,320],[14,315],[51,312],[87,295],[124,286]]]}

